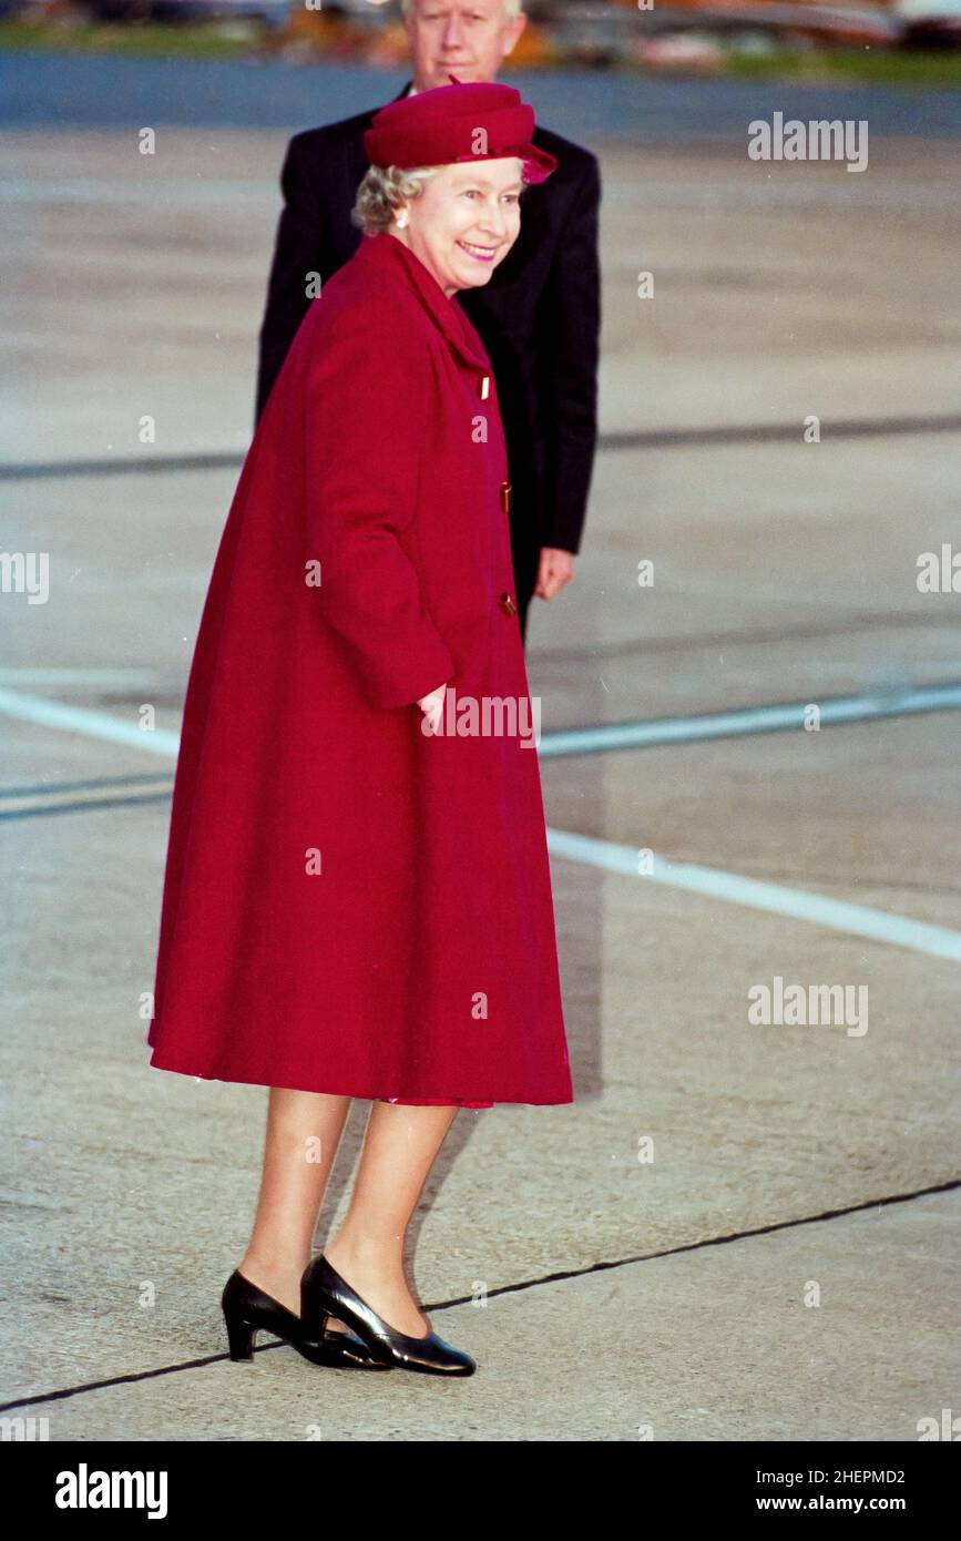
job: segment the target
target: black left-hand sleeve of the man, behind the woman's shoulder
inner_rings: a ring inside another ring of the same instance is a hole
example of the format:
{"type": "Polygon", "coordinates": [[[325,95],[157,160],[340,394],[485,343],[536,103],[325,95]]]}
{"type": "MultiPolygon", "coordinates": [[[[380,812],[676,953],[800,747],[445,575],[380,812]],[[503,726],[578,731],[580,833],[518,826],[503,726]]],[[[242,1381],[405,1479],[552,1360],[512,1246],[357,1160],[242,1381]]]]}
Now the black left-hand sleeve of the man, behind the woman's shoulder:
{"type": "Polygon", "coordinates": [[[256,421],[280,373],[290,345],[311,300],[306,274],[320,271],[322,214],[310,157],[297,139],[286,146],[280,171],[283,208],[277,222],[274,259],[266,284],[266,307],[260,325],[256,421]]]}

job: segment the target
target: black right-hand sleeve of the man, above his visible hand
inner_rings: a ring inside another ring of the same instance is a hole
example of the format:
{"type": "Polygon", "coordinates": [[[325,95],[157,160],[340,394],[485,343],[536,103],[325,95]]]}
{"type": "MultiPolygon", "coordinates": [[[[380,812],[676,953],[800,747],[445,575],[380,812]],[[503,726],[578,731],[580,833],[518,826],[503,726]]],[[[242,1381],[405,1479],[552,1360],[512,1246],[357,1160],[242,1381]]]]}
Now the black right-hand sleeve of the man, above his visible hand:
{"type": "Polygon", "coordinates": [[[601,171],[590,156],[551,262],[542,336],[544,546],[578,552],[598,442],[601,171]]]}

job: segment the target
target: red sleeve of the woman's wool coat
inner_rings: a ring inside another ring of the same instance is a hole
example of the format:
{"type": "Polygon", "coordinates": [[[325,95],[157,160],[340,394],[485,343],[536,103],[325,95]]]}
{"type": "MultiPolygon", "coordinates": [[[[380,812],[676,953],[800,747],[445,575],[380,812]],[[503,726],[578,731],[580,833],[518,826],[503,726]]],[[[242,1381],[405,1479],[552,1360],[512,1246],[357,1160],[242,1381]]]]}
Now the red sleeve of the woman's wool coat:
{"type": "Polygon", "coordinates": [[[306,364],[305,396],[319,607],[370,703],[410,706],[456,673],[410,555],[417,501],[434,495],[427,472],[437,402],[424,333],[383,300],[340,311],[306,364]]]}

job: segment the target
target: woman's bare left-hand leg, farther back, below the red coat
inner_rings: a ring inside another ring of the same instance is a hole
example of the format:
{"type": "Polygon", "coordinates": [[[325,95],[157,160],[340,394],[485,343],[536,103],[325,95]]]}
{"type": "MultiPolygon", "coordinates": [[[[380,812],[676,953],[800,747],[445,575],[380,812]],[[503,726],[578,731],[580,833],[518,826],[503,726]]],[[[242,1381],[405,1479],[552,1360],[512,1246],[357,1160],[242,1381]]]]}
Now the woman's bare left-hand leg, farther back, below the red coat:
{"type": "MultiPolygon", "coordinates": [[[[271,1086],[263,1174],[240,1273],[300,1314],[300,1274],[311,1259],[317,1211],[343,1134],[350,1097],[271,1086]]],[[[330,1322],[336,1328],[336,1322],[330,1322]]]]}

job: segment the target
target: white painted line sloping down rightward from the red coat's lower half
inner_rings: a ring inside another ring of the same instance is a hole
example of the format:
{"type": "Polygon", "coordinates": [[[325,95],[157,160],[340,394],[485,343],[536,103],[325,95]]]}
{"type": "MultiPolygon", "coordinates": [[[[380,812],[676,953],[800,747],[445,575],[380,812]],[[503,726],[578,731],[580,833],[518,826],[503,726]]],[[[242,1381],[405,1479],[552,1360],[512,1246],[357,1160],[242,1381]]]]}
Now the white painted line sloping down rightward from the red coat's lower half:
{"type": "Polygon", "coordinates": [[[929,926],[922,920],[907,920],[882,909],[867,909],[864,905],[849,905],[824,894],[805,894],[799,889],[781,888],[778,883],[761,883],[736,872],[719,872],[716,868],[695,866],[691,861],[667,861],[653,854],[653,871],[639,871],[641,846],[619,846],[611,840],[593,835],[576,835],[565,829],[548,829],[547,846],[551,855],[564,861],[579,861],[585,866],[636,877],[645,883],[665,883],[668,888],[684,888],[691,894],[722,898],[732,905],[747,905],[775,915],[790,915],[793,920],[809,920],[815,926],[830,926],[855,937],[870,937],[872,942],[887,942],[930,957],[961,962],[961,932],[943,926],[929,926]]]}

